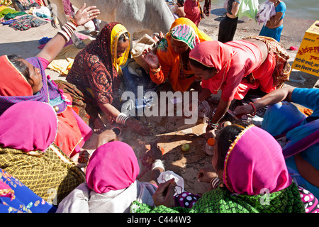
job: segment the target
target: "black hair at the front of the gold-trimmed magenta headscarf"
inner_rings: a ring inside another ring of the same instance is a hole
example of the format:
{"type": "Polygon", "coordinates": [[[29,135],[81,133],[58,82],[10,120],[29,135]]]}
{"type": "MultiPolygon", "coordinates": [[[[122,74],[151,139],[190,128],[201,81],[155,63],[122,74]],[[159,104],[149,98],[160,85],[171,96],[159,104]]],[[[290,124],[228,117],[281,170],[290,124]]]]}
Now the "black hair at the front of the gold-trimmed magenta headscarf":
{"type": "Polygon", "coordinates": [[[225,157],[230,148],[230,145],[234,142],[237,135],[239,135],[247,126],[248,123],[242,121],[236,121],[230,126],[222,128],[216,135],[216,145],[218,152],[218,160],[216,168],[218,170],[224,169],[225,157]]]}

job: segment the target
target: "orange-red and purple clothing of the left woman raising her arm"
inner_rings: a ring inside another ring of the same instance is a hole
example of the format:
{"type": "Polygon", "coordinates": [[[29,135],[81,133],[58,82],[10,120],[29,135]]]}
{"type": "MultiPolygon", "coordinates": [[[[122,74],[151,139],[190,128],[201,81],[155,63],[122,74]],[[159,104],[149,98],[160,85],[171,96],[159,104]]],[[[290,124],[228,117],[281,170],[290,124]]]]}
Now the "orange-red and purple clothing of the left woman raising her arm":
{"type": "MultiPolygon", "coordinates": [[[[45,67],[48,62],[44,58],[31,57],[27,59],[34,67],[39,68],[43,77],[43,87],[33,94],[26,78],[11,64],[6,55],[0,57],[0,114],[13,104],[21,101],[42,101],[57,107],[59,128],[55,138],[55,144],[68,156],[79,153],[84,142],[92,134],[91,128],[82,121],[72,110],[71,96],[57,89],[57,85],[45,75],[45,67]]],[[[36,110],[35,110],[36,111],[36,110]]],[[[45,118],[45,116],[43,116],[45,118]]]]}

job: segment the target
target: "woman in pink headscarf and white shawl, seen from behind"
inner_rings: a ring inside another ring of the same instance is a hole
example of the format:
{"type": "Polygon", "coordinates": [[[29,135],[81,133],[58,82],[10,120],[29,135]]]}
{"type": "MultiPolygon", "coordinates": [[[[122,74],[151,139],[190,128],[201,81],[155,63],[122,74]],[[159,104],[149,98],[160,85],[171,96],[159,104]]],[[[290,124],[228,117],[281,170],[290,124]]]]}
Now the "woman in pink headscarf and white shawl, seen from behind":
{"type": "Polygon", "coordinates": [[[86,183],[60,203],[57,213],[127,213],[135,200],[155,206],[152,195],[157,189],[157,177],[164,171],[160,160],[155,163],[159,165],[152,167],[152,180],[140,182],[138,159],[130,145],[121,141],[100,145],[89,160],[86,183]]]}

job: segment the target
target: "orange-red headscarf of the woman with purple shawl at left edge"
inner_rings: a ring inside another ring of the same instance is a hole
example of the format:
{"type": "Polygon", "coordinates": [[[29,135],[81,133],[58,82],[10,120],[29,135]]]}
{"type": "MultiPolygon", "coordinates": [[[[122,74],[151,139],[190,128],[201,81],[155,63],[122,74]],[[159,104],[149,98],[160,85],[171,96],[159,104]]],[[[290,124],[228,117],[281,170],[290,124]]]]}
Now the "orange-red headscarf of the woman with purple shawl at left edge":
{"type": "Polygon", "coordinates": [[[0,57],[0,95],[1,96],[30,96],[32,87],[26,77],[16,69],[6,55],[0,57]],[[18,87],[18,89],[17,89],[18,87]]]}

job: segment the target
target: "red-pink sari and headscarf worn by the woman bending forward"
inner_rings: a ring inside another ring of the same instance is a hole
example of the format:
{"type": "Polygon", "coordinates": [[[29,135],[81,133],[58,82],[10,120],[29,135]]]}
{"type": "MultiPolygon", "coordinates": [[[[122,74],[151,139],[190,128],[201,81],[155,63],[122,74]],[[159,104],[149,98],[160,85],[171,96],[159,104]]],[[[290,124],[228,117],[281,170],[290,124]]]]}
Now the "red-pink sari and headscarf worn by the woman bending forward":
{"type": "Polygon", "coordinates": [[[221,98],[232,101],[243,99],[250,89],[258,87],[263,92],[272,92],[288,80],[289,56],[284,48],[272,38],[254,38],[267,44],[268,56],[264,62],[262,50],[248,40],[208,41],[196,45],[189,57],[218,71],[211,79],[203,80],[202,87],[210,89],[213,94],[221,89],[221,98]]]}

